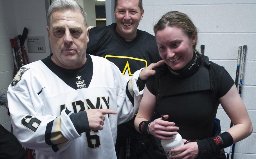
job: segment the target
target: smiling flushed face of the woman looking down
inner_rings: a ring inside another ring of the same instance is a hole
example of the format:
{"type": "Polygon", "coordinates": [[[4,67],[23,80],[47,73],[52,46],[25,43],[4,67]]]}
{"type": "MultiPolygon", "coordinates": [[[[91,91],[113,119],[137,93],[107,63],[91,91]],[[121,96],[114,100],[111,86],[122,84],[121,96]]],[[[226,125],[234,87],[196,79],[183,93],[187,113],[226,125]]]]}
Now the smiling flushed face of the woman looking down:
{"type": "Polygon", "coordinates": [[[161,58],[173,70],[185,67],[193,57],[196,36],[188,35],[177,26],[167,26],[156,32],[156,43],[161,58]]]}

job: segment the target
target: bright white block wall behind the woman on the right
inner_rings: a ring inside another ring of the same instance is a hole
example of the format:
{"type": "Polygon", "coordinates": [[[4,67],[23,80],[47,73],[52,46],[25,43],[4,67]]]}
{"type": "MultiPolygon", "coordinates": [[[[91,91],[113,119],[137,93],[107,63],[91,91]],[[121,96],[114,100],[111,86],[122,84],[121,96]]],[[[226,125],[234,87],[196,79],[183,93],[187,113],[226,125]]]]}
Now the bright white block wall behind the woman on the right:
{"type": "MultiPolygon", "coordinates": [[[[234,158],[256,158],[256,1],[143,0],[143,8],[144,17],[138,28],[153,35],[153,26],[162,15],[174,10],[186,13],[198,29],[197,50],[205,45],[205,55],[224,66],[234,80],[238,46],[248,46],[241,97],[254,130],[249,137],[236,143],[234,158]]],[[[221,105],[217,118],[221,120],[222,131],[230,127],[230,119],[221,105]]]]}

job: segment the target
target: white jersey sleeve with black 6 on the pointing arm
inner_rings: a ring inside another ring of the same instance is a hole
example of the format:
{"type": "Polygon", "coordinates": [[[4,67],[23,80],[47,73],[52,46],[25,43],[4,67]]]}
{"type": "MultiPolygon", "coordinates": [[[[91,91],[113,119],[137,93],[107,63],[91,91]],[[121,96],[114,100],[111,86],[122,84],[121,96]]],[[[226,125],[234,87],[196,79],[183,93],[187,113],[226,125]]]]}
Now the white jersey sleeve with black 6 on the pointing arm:
{"type": "Polygon", "coordinates": [[[81,135],[77,133],[69,118],[70,111],[62,111],[60,116],[45,115],[42,112],[45,109],[41,109],[41,107],[44,107],[45,103],[35,93],[37,90],[35,83],[38,81],[33,81],[38,79],[30,79],[33,77],[31,74],[33,71],[29,69],[32,68],[29,66],[21,68],[15,76],[16,80],[14,78],[8,88],[8,103],[14,133],[23,146],[37,149],[44,155],[55,155],[68,148],[70,142],[81,135]],[[16,82],[19,82],[19,86],[15,86],[16,82]],[[13,85],[14,87],[12,87],[13,85]],[[55,136],[54,142],[51,141],[51,138],[47,139],[46,137],[47,129],[52,128],[49,127],[51,123],[55,124],[55,130],[48,132],[55,136]],[[55,152],[57,149],[58,151],[55,152]]]}

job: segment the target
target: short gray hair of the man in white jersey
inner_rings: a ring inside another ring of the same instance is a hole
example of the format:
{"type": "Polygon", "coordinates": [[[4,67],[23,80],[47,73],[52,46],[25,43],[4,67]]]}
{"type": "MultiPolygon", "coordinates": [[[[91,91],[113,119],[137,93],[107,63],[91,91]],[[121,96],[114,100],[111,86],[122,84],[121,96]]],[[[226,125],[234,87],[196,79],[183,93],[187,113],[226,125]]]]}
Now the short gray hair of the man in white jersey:
{"type": "Polygon", "coordinates": [[[86,12],[84,11],[84,9],[74,0],[56,0],[54,1],[51,6],[49,7],[48,13],[47,13],[47,17],[49,20],[49,25],[51,26],[51,14],[54,11],[61,11],[61,10],[75,10],[75,11],[79,11],[83,18],[84,18],[84,24],[87,27],[87,18],[86,18],[86,12]]]}

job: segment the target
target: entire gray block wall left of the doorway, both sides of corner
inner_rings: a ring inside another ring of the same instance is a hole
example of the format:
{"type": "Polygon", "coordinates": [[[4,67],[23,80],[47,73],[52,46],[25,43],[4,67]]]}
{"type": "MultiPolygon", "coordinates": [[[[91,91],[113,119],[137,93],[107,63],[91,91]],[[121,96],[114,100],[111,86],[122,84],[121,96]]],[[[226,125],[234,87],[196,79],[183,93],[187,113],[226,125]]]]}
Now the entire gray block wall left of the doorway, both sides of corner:
{"type": "MultiPolygon", "coordinates": [[[[44,36],[46,53],[30,53],[30,62],[43,59],[50,54],[46,31],[46,11],[44,0],[0,0],[0,89],[7,94],[13,79],[13,55],[10,39],[22,34],[28,28],[28,36],[44,36]]],[[[25,42],[25,48],[27,44],[25,42]]],[[[7,109],[0,106],[0,124],[11,130],[7,109]]]]}

